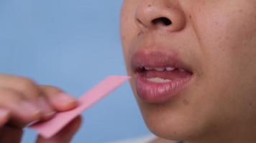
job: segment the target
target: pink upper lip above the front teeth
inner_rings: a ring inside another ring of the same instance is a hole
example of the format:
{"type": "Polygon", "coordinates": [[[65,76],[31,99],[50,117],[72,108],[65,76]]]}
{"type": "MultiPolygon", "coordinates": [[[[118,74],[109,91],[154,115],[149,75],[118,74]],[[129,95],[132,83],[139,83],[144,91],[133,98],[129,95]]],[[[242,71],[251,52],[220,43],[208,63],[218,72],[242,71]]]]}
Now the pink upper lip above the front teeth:
{"type": "Polygon", "coordinates": [[[143,67],[175,67],[193,73],[191,66],[180,59],[177,52],[160,49],[140,49],[131,56],[132,71],[137,72],[143,67]]]}

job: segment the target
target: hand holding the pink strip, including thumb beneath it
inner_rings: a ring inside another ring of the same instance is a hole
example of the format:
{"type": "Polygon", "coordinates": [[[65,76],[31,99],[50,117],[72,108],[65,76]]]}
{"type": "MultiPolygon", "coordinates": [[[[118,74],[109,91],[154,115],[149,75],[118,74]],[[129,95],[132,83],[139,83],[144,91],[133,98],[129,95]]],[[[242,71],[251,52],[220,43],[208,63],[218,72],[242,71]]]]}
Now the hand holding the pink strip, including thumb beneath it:
{"type": "MultiPolygon", "coordinates": [[[[0,142],[21,142],[22,128],[27,124],[50,119],[56,112],[77,106],[76,99],[61,93],[57,87],[38,85],[24,77],[0,74],[0,142]]],[[[38,137],[37,143],[70,142],[80,124],[81,117],[78,117],[55,137],[38,137]]]]}

